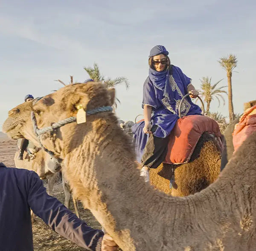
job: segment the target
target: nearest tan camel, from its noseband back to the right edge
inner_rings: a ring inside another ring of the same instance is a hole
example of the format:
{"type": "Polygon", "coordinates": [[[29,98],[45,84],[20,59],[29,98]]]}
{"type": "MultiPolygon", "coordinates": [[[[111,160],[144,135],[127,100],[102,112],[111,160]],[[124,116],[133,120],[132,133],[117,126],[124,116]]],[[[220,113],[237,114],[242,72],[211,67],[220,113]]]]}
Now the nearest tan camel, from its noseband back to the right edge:
{"type": "MultiPolygon", "coordinates": [[[[112,106],[114,91],[96,83],[66,86],[33,106],[39,128],[76,116],[76,107],[112,106]]],[[[134,148],[111,112],[41,135],[85,208],[123,251],[256,250],[256,134],[200,193],[171,197],[140,177],[134,148]]],[[[32,127],[29,127],[33,135],[32,127]]],[[[11,130],[9,134],[12,134],[11,130]]],[[[37,137],[31,136],[29,140],[37,137]]]]}

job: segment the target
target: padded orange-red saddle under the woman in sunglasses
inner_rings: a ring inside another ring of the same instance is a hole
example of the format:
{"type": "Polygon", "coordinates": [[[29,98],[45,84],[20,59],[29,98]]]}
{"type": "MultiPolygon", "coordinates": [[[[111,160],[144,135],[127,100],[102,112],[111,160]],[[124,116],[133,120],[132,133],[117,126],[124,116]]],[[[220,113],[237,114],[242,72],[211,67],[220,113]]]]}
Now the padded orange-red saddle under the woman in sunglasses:
{"type": "Polygon", "coordinates": [[[198,140],[204,132],[216,137],[222,151],[223,145],[218,123],[206,116],[189,115],[178,119],[172,129],[169,135],[166,159],[163,163],[175,165],[188,163],[198,140]]]}

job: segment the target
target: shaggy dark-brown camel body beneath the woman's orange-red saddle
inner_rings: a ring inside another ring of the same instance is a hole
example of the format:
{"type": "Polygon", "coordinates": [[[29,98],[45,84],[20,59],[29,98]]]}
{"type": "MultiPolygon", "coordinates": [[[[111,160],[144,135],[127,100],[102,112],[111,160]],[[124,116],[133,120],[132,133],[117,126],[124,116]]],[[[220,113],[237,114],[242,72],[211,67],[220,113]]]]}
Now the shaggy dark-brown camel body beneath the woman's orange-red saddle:
{"type": "MultiPolygon", "coordinates": [[[[128,131],[128,134],[131,135],[131,132],[128,131]]],[[[151,168],[150,183],[166,194],[188,196],[213,183],[220,173],[220,166],[221,149],[218,142],[205,132],[198,140],[188,163],[178,165],[162,163],[158,168],[151,168]],[[174,169],[175,187],[170,189],[172,169],[174,169]]]]}

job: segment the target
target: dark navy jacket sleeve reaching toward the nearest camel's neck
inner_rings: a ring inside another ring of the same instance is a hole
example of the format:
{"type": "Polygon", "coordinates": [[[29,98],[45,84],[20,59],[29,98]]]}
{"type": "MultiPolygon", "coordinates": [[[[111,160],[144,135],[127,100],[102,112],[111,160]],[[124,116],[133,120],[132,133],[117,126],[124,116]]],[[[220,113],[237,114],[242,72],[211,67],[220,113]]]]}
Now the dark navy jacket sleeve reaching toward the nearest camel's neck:
{"type": "Polygon", "coordinates": [[[89,227],[60,201],[49,196],[35,172],[28,175],[28,204],[32,211],[61,236],[83,248],[100,251],[104,233],[89,227]]]}

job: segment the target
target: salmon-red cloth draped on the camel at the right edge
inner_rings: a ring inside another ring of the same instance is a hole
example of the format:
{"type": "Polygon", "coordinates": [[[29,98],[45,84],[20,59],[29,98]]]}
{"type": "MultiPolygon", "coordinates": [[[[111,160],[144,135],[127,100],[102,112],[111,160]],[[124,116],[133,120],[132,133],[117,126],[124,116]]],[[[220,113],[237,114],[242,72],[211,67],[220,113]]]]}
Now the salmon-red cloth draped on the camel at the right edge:
{"type": "Polygon", "coordinates": [[[247,137],[256,131],[256,105],[244,111],[233,131],[233,145],[236,151],[247,137]]]}

